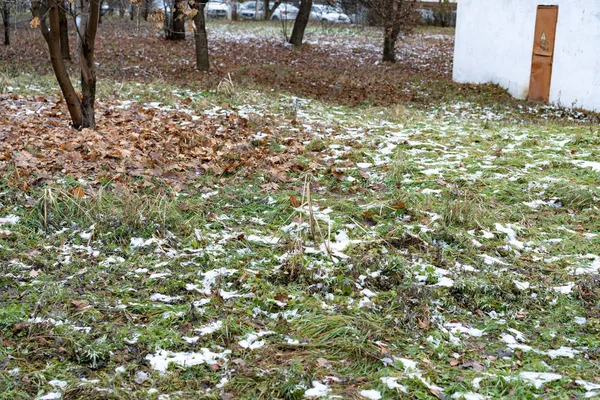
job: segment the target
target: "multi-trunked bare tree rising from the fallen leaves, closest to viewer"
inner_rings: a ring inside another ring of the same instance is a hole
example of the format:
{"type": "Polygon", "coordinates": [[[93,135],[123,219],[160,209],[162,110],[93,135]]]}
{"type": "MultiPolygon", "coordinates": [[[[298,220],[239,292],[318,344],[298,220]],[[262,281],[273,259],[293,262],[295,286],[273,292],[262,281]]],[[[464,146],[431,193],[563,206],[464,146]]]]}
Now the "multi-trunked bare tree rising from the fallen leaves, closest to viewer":
{"type": "Polygon", "coordinates": [[[67,103],[75,129],[95,128],[94,103],[96,100],[96,65],[94,45],[100,17],[100,0],[77,0],[78,12],[72,12],[79,38],[79,64],[81,70],[81,99],[77,95],[62,58],[60,46],[60,7],[62,0],[34,0],[31,26],[39,26],[48,45],[50,61],[56,80],[67,103]]]}

